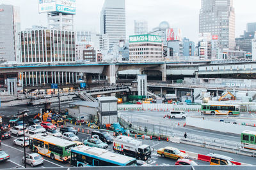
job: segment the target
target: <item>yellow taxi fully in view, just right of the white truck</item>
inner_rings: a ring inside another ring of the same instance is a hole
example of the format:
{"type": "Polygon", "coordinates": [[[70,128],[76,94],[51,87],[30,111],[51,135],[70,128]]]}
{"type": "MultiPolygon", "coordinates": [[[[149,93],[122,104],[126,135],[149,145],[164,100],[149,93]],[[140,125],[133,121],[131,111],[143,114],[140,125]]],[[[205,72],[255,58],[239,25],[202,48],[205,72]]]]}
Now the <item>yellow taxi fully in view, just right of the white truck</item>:
{"type": "Polygon", "coordinates": [[[187,153],[180,152],[177,148],[166,146],[165,148],[160,148],[157,150],[157,154],[161,157],[171,158],[171,159],[186,159],[188,158],[187,153]]]}

